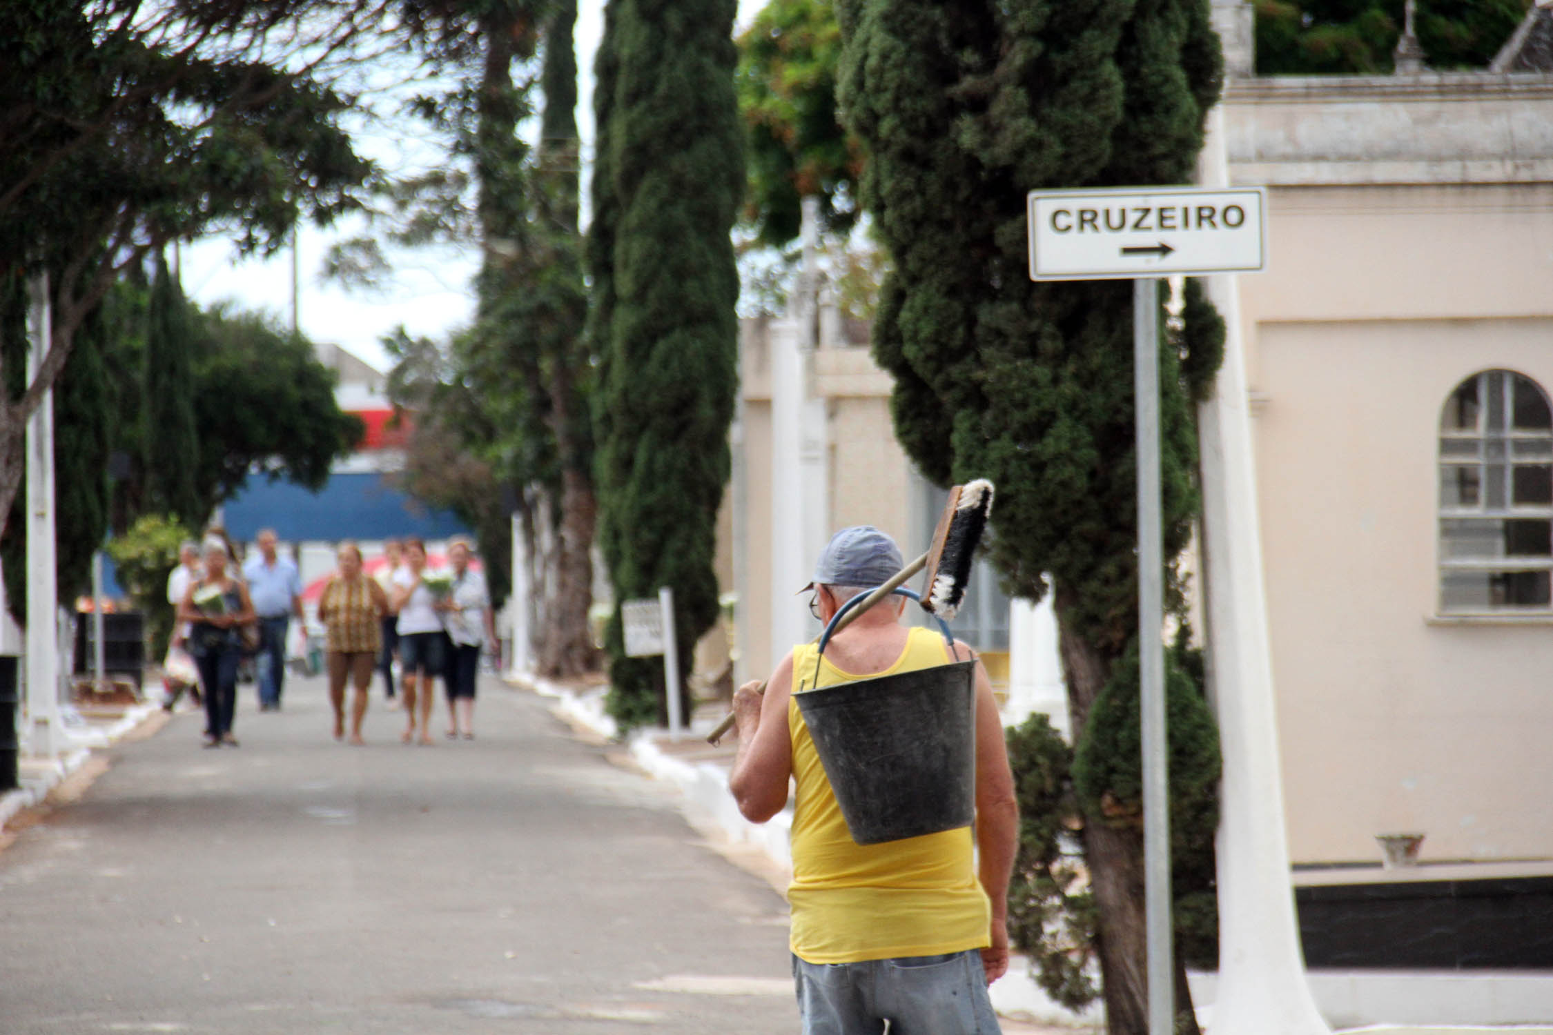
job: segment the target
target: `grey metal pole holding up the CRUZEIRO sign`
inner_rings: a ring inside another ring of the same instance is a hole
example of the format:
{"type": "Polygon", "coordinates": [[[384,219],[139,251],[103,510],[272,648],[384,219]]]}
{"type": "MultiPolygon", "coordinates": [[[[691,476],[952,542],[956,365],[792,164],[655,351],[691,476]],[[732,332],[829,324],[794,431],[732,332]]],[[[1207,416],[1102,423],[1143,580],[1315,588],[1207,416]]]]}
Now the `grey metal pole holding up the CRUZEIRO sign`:
{"type": "Polygon", "coordinates": [[[1149,1035],[1174,1030],[1169,905],[1169,774],[1165,739],[1165,557],[1160,532],[1159,281],[1132,281],[1132,379],[1138,469],[1138,677],[1143,725],[1143,880],[1149,1035]]]}

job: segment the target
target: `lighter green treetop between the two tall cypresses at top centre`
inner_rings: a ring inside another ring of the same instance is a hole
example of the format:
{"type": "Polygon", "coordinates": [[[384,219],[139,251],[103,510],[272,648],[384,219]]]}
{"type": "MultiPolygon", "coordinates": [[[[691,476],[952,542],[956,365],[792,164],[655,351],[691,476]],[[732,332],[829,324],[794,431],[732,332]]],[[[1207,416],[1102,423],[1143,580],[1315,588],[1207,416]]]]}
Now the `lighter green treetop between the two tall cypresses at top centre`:
{"type": "Polygon", "coordinates": [[[738,43],[735,82],[749,163],[744,219],[759,244],[780,248],[798,236],[798,202],[812,194],[825,228],[845,234],[857,219],[863,157],[837,113],[842,31],[831,0],[769,0],[738,43]]]}

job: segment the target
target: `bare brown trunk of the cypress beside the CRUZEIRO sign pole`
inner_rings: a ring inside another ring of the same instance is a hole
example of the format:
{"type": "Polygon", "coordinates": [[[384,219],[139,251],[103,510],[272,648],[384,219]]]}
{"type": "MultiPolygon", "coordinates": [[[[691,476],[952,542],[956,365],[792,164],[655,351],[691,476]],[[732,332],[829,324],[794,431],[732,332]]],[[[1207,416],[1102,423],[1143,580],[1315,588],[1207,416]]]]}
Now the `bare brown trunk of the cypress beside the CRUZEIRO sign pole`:
{"type": "MultiPolygon", "coordinates": [[[[1073,743],[1084,737],[1089,712],[1110,678],[1112,658],[1073,632],[1065,619],[1076,594],[1056,587],[1058,652],[1067,683],[1073,743]]],[[[1100,971],[1109,1035],[1148,1035],[1148,919],[1145,916],[1143,830],[1086,816],[1084,860],[1100,912],[1100,971]]],[[[1176,1035],[1199,1035],[1186,968],[1173,956],[1176,1035]]]]}

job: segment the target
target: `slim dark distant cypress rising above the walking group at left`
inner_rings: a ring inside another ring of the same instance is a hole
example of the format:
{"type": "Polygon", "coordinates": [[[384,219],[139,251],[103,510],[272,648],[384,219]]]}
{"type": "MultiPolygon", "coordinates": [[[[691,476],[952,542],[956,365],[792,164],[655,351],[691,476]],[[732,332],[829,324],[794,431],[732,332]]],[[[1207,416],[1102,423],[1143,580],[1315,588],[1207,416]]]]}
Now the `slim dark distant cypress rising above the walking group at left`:
{"type": "Polygon", "coordinates": [[[188,528],[205,521],[196,487],[200,459],[194,425],[194,329],[183,289],[157,253],[146,312],[144,503],[188,528]]]}

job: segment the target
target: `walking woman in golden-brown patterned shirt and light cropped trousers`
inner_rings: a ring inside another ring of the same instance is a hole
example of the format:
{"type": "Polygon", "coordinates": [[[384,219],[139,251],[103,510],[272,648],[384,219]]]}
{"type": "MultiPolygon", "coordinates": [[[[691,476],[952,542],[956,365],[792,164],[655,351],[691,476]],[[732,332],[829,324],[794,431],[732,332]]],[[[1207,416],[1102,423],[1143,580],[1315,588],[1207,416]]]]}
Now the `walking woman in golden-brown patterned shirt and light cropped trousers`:
{"type": "Polygon", "coordinates": [[[382,649],[382,621],[388,596],[376,579],[362,574],[362,551],[356,543],[340,543],[339,569],[318,596],[318,621],[328,635],[329,704],[334,706],[334,739],[345,739],[345,681],[356,686],[351,700],[351,743],[360,745],[367,694],[373,666],[382,649]]]}

